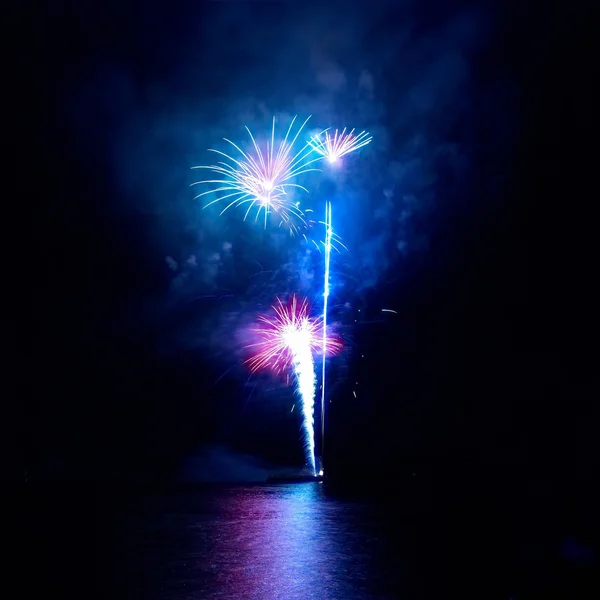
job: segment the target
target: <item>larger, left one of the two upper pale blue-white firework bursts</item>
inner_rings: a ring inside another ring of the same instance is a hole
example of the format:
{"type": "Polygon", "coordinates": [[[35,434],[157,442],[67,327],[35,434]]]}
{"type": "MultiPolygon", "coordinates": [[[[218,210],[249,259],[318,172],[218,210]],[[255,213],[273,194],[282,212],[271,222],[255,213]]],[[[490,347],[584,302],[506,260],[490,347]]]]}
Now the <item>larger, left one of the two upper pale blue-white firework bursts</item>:
{"type": "Polygon", "coordinates": [[[251,213],[255,215],[254,220],[258,221],[262,214],[266,227],[268,216],[274,214],[279,219],[280,226],[285,226],[292,235],[296,233],[300,226],[305,226],[306,223],[304,214],[299,208],[300,203],[294,202],[293,194],[288,192],[291,192],[293,188],[305,192],[308,190],[293,183],[292,180],[303,173],[317,171],[318,169],[311,168],[310,165],[322,158],[321,156],[315,157],[311,143],[305,143],[302,149],[296,153],[293,151],[308,119],[289,141],[296,121],[296,117],[294,117],[277,149],[275,148],[277,145],[275,142],[275,117],[273,117],[270,142],[267,141],[262,148],[248,127],[246,127],[246,131],[252,140],[252,151],[250,152],[244,152],[240,146],[223,138],[235,148],[239,156],[234,158],[220,150],[210,149],[210,152],[220,155],[225,160],[218,161],[214,165],[192,167],[193,169],[207,169],[216,174],[215,179],[192,183],[192,185],[213,184],[216,186],[198,194],[194,200],[207,194],[216,194],[217,198],[203,208],[227,200],[221,215],[231,207],[243,207],[245,209],[244,221],[251,213]]]}

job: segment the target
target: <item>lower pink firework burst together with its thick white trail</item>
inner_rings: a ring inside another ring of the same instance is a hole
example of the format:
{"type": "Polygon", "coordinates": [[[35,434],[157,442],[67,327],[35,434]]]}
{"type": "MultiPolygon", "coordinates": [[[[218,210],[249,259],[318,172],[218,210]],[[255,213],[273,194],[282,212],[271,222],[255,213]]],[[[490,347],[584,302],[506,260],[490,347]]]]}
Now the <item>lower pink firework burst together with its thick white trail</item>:
{"type": "Polygon", "coordinates": [[[304,452],[306,462],[315,473],[314,404],[316,375],[314,355],[327,351],[335,354],[342,349],[337,338],[327,338],[321,318],[313,319],[305,300],[296,296],[283,303],[277,298],[273,317],[261,316],[252,331],[260,341],[250,344],[253,355],[246,361],[251,372],[271,369],[275,373],[293,370],[302,401],[304,452]]]}

